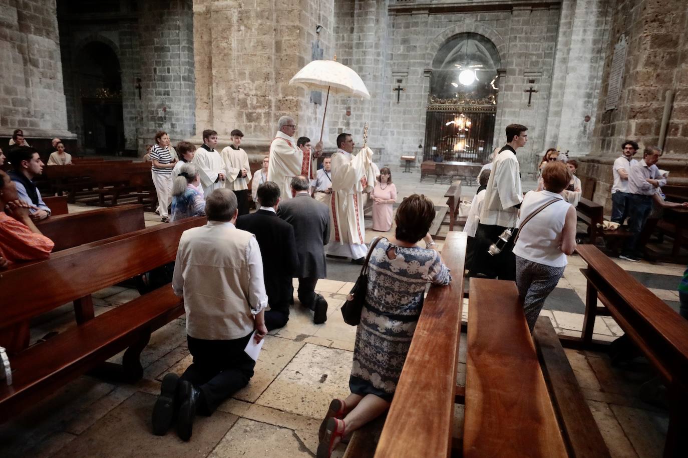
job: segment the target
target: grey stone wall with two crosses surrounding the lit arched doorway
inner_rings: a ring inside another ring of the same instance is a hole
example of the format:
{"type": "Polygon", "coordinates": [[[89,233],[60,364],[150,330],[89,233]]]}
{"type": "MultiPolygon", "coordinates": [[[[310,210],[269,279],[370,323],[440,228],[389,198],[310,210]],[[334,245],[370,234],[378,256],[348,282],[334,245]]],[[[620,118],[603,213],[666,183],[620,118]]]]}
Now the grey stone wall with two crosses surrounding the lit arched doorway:
{"type": "Polygon", "coordinates": [[[506,124],[526,124],[531,140],[520,155],[526,162],[534,162],[530,158],[541,154],[545,144],[558,5],[536,2],[535,7],[517,7],[504,2],[483,12],[452,8],[453,12],[447,12],[447,8],[429,10],[427,4],[387,4],[380,0],[336,4],[336,54],[361,75],[372,100],[339,101],[336,112],[328,115],[330,135],[346,128],[360,142],[367,120],[371,123],[371,146],[383,153],[380,163],[398,163],[402,154],[419,155],[418,145],[425,137],[432,60],[447,39],[475,32],[495,43],[506,69],[506,78],[499,81],[495,140],[504,141],[506,124]],[[528,77],[528,72],[537,76],[528,77]],[[530,87],[530,79],[535,79],[533,86],[539,93],[533,95],[528,107],[528,94],[523,91],[530,87]],[[405,89],[398,104],[392,91],[397,84],[405,89]],[[347,116],[349,106],[352,114],[347,116]]]}

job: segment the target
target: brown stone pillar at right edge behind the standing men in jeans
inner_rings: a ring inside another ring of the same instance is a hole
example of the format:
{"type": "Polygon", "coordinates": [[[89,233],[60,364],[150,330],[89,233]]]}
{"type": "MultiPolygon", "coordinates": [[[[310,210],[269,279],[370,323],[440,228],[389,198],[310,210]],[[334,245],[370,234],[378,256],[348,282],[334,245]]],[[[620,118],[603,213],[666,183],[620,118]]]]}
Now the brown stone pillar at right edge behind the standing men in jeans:
{"type": "Polygon", "coordinates": [[[658,144],[665,94],[676,94],[668,119],[665,154],[660,168],[669,170],[669,184],[688,185],[688,11],[683,0],[620,0],[614,7],[592,152],[579,174],[596,180],[594,200],[610,205],[612,163],[621,143],[632,139],[658,144]],[[627,52],[616,108],[605,110],[614,45],[621,35],[627,52]]]}

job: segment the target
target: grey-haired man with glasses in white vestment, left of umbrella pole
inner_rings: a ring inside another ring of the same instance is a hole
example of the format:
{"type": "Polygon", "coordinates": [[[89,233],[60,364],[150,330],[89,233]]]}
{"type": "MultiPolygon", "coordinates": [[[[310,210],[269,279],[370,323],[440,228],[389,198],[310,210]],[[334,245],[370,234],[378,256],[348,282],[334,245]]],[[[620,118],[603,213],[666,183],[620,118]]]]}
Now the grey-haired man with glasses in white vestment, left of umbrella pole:
{"type": "Polygon", "coordinates": [[[303,175],[308,179],[315,176],[314,157],[318,157],[323,149],[322,141],[315,146],[316,154],[311,154],[306,148],[299,148],[294,134],[297,126],[294,118],[282,116],[277,122],[277,134],[270,144],[270,167],[268,181],[277,183],[281,198],[292,198],[291,182],[294,176],[303,175]]]}

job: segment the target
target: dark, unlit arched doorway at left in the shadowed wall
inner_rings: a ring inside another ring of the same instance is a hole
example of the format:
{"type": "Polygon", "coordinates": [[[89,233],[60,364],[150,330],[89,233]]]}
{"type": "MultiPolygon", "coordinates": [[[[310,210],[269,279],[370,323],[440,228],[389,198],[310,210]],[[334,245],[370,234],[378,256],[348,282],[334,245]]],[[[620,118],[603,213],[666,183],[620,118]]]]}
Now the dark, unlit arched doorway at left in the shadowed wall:
{"type": "Polygon", "coordinates": [[[117,154],[124,149],[125,140],[117,54],[105,43],[93,41],[78,52],[74,70],[83,110],[83,150],[117,154]]]}

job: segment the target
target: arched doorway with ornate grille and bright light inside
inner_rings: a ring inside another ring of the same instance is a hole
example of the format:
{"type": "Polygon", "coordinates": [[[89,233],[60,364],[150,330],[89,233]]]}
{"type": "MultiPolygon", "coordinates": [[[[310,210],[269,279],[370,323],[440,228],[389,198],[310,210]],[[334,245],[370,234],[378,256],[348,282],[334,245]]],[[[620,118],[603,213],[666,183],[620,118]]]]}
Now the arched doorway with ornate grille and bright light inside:
{"type": "Polygon", "coordinates": [[[494,43],[473,32],[449,38],[432,63],[424,160],[486,162],[497,113],[494,43]]]}

